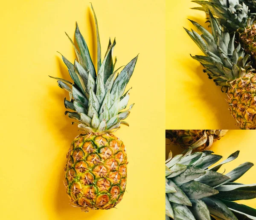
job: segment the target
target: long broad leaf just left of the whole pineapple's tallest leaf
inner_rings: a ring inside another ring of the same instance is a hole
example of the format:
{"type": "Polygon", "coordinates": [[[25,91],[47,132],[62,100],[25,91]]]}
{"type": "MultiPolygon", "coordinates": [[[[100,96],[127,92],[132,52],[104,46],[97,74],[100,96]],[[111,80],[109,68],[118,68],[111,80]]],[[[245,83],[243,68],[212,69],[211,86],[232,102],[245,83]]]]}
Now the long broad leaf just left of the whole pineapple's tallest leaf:
{"type": "Polygon", "coordinates": [[[79,46],[80,52],[81,52],[81,57],[83,58],[86,71],[89,70],[89,73],[96,78],[96,72],[95,68],[93,66],[93,61],[90,57],[90,52],[87,47],[86,42],[84,41],[84,37],[81,35],[78,24],[76,23],[76,32],[75,32],[75,37],[76,37],[76,42],[79,46]]]}

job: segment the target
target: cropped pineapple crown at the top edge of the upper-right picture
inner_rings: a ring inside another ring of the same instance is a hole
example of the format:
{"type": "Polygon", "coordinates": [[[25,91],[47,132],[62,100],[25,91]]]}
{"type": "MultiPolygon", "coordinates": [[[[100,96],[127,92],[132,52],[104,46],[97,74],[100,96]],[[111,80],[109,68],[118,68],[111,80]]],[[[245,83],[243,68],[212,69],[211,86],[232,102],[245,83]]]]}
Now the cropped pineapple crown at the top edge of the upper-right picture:
{"type": "MultiPolygon", "coordinates": [[[[209,11],[218,18],[221,25],[225,25],[229,31],[236,31],[239,28],[245,28],[253,24],[255,14],[251,13],[248,6],[239,0],[209,0],[192,1],[202,7],[195,7],[208,14],[209,11]]],[[[247,1],[246,1],[247,2],[247,1]]]]}

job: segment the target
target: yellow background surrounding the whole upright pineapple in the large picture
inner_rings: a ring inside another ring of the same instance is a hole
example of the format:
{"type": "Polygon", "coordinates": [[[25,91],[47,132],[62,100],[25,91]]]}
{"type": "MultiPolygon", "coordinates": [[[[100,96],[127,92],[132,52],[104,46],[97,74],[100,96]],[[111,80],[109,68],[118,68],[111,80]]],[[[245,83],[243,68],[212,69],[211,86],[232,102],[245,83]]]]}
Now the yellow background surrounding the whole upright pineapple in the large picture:
{"type": "Polygon", "coordinates": [[[128,153],[127,192],[116,208],[81,212],[69,205],[63,177],[70,142],[79,133],[64,116],[64,93],[48,75],[67,78],[60,51],[73,62],[75,22],[96,62],[90,1],[3,1],[0,8],[1,166],[0,218],[3,220],[132,220],[164,218],[163,0],[91,0],[103,54],[116,37],[117,66],[139,59],[128,87],[135,103],[116,135],[128,153]],[[93,33],[93,34],[92,34],[93,33]],[[163,164],[162,166],[160,164],[163,164]],[[161,168],[162,167],[162,168],[161,168]],[[160,191],[163,191],[161,194],[160,191]]]}

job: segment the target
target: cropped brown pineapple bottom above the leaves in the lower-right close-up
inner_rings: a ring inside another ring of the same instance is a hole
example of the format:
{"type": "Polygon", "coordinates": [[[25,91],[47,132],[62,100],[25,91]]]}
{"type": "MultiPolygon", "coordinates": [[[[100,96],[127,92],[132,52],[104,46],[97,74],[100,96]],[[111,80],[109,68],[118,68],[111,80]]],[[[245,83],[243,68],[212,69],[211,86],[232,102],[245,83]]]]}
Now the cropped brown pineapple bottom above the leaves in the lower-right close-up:
{"type": "Polygon", "coordinates": [[[166,130],[166,138],[183,148],[207,150],[228,130],[166,130]]]}

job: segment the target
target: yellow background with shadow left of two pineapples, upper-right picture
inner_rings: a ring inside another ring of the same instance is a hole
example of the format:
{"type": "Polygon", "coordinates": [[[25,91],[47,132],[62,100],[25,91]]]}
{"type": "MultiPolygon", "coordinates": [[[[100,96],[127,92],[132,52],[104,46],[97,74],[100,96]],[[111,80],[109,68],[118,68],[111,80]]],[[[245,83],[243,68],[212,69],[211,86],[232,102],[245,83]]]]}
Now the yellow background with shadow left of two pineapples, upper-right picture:
{"type": "Polygon", "coordinates": [[[166,128],[238,129],[227,95],[189,55],[203,55],[183,29],[193,27],[187,18],[207,26],[205,13],[190,9],[197,6],[191,0],[166,1],[166,128]]]}

